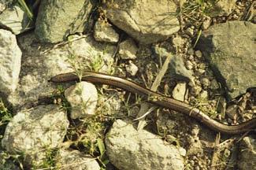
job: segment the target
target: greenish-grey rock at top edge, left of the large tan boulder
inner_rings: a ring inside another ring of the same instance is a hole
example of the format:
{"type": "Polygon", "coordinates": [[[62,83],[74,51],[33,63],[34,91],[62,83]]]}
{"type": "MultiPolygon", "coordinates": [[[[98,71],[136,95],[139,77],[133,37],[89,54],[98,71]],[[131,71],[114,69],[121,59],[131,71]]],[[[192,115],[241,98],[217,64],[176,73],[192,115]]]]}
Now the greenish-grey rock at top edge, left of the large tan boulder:
{"type": "Polygon", "coordinates": [[[70,34],[83,32],[92,8],[90,0],[44,0],[39,6],[35,34],[41,42],[55,43],[70,34]]]}

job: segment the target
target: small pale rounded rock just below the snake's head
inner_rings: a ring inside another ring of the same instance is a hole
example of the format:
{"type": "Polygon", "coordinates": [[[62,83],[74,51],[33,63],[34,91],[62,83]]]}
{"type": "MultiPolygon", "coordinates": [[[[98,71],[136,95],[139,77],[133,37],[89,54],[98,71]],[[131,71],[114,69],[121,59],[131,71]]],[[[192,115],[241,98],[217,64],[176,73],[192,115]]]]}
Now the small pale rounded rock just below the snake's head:
{"type": "Polygon", "coordinates": [[[94,84],[87,82],[76,83],[65,90],[65,98],[72,106],[72,119],[84,118],[95,114],[98,92],[94,84]]]}

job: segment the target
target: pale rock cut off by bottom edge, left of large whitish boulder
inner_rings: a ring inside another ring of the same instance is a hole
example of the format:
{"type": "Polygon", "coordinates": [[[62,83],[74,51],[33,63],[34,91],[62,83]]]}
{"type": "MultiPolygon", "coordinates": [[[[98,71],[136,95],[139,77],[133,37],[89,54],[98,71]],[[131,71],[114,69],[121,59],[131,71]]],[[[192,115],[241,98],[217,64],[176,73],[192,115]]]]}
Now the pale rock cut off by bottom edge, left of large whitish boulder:
{"type": "Polygon", "coordinates": [[[56,166],[62,170],[99,170],[100,166],[95,158],[78,150],[59,150],[56,166]]]}

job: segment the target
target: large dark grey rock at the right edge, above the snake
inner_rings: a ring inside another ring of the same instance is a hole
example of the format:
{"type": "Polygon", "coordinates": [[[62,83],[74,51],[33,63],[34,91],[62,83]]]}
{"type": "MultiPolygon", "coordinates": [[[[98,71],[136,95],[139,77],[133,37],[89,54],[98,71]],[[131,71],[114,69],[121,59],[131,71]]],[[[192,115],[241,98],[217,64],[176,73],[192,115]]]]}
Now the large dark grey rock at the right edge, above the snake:
{"type": "Polygon", "coordinates": [[[198,41],[197,49],[210,62],[229,100],[256,86],[255,30],[256,25],[246,21],[215,24],[198,41]]]}

